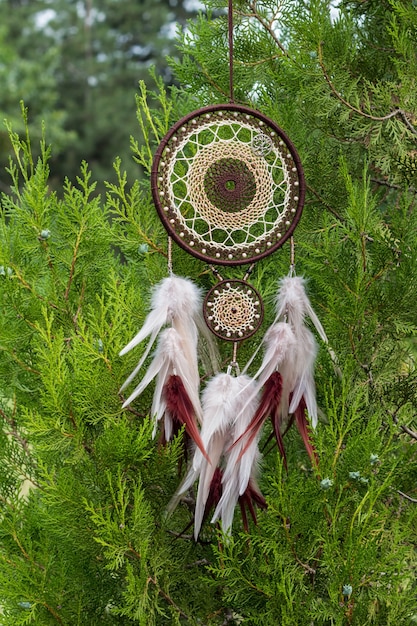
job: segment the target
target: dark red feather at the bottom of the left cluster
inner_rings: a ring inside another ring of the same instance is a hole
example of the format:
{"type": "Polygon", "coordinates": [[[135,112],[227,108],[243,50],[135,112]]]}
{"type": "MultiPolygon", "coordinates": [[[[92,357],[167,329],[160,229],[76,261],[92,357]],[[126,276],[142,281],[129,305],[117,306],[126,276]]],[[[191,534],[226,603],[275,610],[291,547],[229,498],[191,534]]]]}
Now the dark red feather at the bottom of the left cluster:
{"type": "Polygon", "coordinates": [[[167,413],[171,416],[174,426],[178,424],[181,424],[181,426],[185,425],[185,432],[191,437],[196,446],[200,448],[201,453],[210,463],[198,431],[193,404],[181,378],[176,375],[170,376],[165,384],[163,393],[167,405],[167,413]]]}

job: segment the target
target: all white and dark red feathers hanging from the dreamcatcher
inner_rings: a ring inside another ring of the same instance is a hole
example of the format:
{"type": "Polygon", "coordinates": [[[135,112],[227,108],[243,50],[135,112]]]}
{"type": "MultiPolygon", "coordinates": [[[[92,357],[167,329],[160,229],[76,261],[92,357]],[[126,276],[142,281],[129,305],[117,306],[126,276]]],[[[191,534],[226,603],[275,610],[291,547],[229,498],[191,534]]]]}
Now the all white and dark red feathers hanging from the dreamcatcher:
{"type": "MultiPolygon", "coordinates": [[[[143,327],[121,351],[125,354],[145,339],[142,357],[122,386],[125,389],[138,374],[152,347],[156,350],[143,378],[124,402],[129,405],[155,380],[152,401],[154,434],[163,422],[164,438],[172,438],[181,427],[194,442],[188,472],[173,497],[172,512],[181,497],[198,481],[194,535],[211,519],[221,521],[230,532],[236,506],[247,511],[256,523],[255,506],[266,507],[257,484],[259,438],[265,421],[272,421],[273,435],[287,465],[283,437],[295,423],[306,450],[317,463],[309,428],[317,424],[314,364],[317,342],[307,318],[327,343],[301,277],[289,275],[279,284],[276,317],[263,339],[262,362],[253,377],[218,373],[211,378],[200,401],[197,347],[199,336],[216,372],[217,355],[201,313],[201,294],[189,280],[170,276],[154,290],[151,311],[143,327]]],[[[256,355],[256,353],[255,353],[256,355]]],[[[254,356],[255,356],[254,355],[254,356]]]]}

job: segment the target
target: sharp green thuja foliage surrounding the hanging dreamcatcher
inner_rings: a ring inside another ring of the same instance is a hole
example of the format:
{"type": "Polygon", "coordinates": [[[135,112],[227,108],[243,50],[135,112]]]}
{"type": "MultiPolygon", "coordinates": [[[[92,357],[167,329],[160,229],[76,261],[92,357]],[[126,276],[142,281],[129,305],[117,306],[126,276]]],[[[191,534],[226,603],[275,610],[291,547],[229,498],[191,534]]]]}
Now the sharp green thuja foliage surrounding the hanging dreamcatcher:
{"type": "MultiPolygon", "coordinates": [[[[357,626],[417,619],[415,7],[401,0],[236,2],[235,97],[294,140],[307,181],[298,274],[329,337],[316,366],[312,467],[285,435],[288,472],[261,441],[268,509],[243,531],[206,523],[193,494],[171,517],[182,438],[152,438],[152,390],[122,410],[120,358],[167,274],[148,175],[170,125],[228,99],[225,2],[181,35],[186,89],[137,95],[145,178],[120,159],[105,196],[83,162],[50,188],[9,124],[11,191],[0,214],[0,623],[357,626]],[[278,10],[278,12],[277,12],[278,10]],[[279,26],[279,28],[278,28],[279,26]]],[[[23,110],[22,126],[27,129],[23,110]]],[[[284,247],[250,280],[273,318],[284,247]]],[[[174,247],[176,273],[215,277],[174,247]]],[[[225,277],[236,269],[223,268],[225,277]]],[[[261,333],[259,334],[261,336],[261,333]]],[[[243,365],[260,338],[239,347],[243,365]]],[[[222,347],[225,361],[229,347],[222,347]]],[[[251,369],[256,368],[259,355],[251,369]]],[[[204,380],[203,380],[204,384],[204,380]]]]}

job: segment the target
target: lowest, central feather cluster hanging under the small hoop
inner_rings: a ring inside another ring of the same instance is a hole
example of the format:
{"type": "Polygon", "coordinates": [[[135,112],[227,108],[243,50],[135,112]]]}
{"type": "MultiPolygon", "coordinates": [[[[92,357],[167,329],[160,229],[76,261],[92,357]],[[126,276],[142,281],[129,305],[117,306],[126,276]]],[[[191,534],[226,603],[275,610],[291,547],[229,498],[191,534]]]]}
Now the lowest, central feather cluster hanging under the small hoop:
{"type": "Polygon", "coordinates": [[[172,511],[180,497],[196,480],[199,481],[194,518],[195,538],[213,508],[211,521],[221,519],[224,532],[229,532],[238,502],[246,524],[246,506],[255,521],[254,504],[266,506],[256,482],[260,456],[258,439],[254,437],[244,450],[241,439],[256,411],[255,387],[254,381],[248,376],[217,374],[204,389],[201,439],[209,461],[200,449],[195,451],[188,474],[170,505],[172,511]]]}

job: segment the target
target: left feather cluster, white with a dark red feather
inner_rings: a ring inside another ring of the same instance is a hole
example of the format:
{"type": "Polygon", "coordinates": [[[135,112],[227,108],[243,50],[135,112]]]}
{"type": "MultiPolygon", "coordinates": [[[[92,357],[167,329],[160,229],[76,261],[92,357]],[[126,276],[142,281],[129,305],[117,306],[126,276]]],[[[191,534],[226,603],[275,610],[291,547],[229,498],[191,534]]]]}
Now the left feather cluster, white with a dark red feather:
{"type": "MultiPolygon", "coordinates": [[[[166,441],[184,425],[186,434],[206,455],[197,426],[202,420],[197,346],[200,333],[204,334],[206,343],[212,343],[212,339],[204,323],[201,304],[200,290],[186,278],[172,275],[156,286],[151,310],[142,328],[120,352],[124,355],[148,339],[139,363],[122,385],[121,391],[139,373],[157,342],[151,364],[123,407],[131,404],[155,379],[151,408],[154,436],[162,419],[166,441]]],[[[214,348],[211,354],[215,354],[214,348]]]]}

